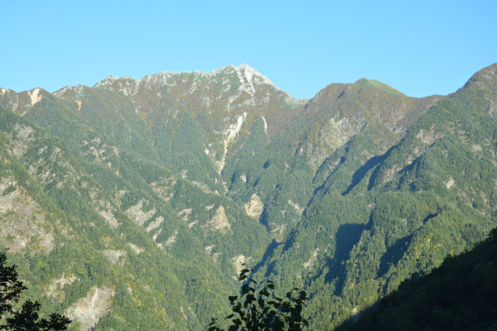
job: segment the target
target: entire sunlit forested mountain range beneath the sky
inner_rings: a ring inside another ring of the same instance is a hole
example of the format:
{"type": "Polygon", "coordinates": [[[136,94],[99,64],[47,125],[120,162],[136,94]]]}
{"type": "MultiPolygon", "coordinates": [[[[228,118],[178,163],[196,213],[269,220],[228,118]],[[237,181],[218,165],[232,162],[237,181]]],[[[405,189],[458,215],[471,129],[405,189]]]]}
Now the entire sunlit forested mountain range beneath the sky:
{"type": "Polygon", "coordinates": [[[497,225],[497,64],[425,98],[247,65],[0,89],[0,224],[73,330],[203,330],[244,263],[332,330],[497,225]]]}

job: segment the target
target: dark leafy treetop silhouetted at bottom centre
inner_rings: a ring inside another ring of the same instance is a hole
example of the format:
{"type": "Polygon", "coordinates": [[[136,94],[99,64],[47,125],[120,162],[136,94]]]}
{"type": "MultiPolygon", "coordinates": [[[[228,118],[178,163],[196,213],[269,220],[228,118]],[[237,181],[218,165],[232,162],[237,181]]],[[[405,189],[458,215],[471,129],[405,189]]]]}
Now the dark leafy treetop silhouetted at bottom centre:
{"type": "MultiPolygon", "coordinates": [[[[278,298],[274,294],[274,283],[266,280],[257,285],[248,276],[251,271],[252,268],[246,268],[240,272],[238,280],[245,282],[240,297],[228,297],[233,310],[233,314],[225,318],[233,323],[229,331],[302,330],[308,325],[307,320],[302,318],[302,308],[309,300],[306,291],[294,288],[286,293],[285,298],[278,298]]],[[[223,330],[217,326],[217,320],[212,319],[209,331],[223,330]]]]}

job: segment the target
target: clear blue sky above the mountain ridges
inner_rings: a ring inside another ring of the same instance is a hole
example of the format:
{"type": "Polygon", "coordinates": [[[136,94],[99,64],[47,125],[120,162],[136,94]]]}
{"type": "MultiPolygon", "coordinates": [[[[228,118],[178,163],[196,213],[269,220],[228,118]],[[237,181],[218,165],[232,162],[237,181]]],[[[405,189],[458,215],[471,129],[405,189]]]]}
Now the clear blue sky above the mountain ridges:
{"type": "Polygon", "coordinates": [[[297,98],[361,77],[419,97],[497,62],[496,0],[179,2],[0,0],[0,86],[247,63],[297,98]]]}

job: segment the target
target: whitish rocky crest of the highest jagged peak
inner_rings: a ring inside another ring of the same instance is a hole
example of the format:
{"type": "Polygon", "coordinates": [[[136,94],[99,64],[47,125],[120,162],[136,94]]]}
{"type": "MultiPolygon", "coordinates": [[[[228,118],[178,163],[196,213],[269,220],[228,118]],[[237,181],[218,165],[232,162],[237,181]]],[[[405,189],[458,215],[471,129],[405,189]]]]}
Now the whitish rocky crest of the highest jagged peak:
{"type": "MultiPolygon", "coordinates": [[[[208,73],[163,71],[140,79],[109,76],[93,87],[103,87],[130,96],[144,112],[170,107],[167,102],[170,100],[165,99],[172,99],[174,95],[181,96],[187,106],[200,102],[201,107],[224,107],[226,110],[245,104],[257,107],[264,105],[267,111],[266,107],[271,102],[299,103],[246,64],[226,66],[208,73]]],[[[63,90],[58,93],[61,92],[63,90]]]]}

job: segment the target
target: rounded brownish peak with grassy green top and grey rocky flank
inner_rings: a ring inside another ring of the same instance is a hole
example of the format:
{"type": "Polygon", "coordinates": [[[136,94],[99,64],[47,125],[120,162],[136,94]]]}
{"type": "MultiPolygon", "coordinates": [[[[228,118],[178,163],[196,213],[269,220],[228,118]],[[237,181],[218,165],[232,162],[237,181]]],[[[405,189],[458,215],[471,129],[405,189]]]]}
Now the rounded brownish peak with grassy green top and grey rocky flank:
{"type": "MultiPolygon", "coordinates": [[[[338,147],[368,127],[384,128],[399,139],[442,96],[411,98],[376,80],[331,84],[306,105],[311,123],[303,141],[312,166],[318,168],[338,147]]],[[[385,147],[389,147],[386,145],[385,147]]]]}

